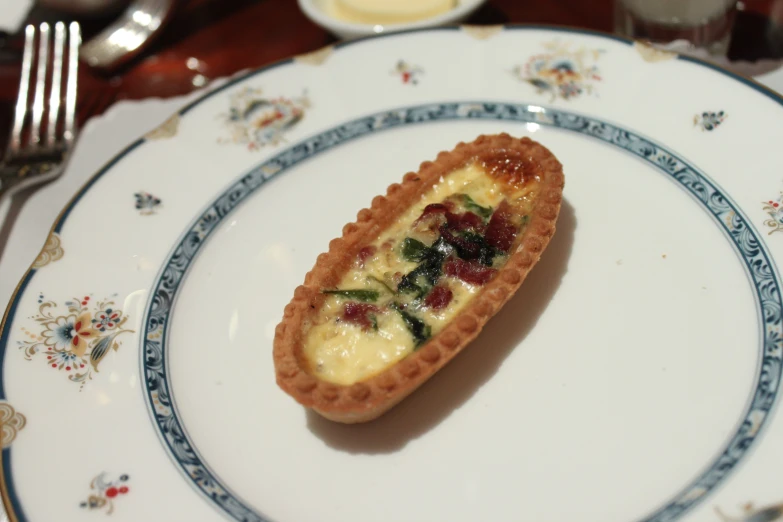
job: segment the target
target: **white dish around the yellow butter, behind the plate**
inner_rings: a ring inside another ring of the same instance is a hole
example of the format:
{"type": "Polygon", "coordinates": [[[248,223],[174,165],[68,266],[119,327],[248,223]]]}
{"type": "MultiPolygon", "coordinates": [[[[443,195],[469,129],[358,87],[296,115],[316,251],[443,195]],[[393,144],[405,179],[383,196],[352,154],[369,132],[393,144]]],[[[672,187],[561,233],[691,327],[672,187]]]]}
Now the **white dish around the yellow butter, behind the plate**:
{"type": "Polygon", "coordinates": [[[326,12],[327,2],[333,0],[298,0],[299,8],[313,23],[320,25],[330,33],[345,40],[371,36],[380,33],[405,31],[457,24],[472,15],[486,0],[457,0],[457,6],[438,16],[405,24],[357,24],[338,20],[326,12]]]}

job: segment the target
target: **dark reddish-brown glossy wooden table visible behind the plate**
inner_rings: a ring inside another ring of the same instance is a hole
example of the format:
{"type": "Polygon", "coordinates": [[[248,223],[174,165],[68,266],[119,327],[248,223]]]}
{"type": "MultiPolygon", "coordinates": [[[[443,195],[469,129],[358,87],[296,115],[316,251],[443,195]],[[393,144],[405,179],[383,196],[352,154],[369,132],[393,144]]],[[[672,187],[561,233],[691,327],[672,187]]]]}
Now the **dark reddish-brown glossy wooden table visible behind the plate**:
{"type": "MultiPolygon", "coordinates": [[[[783,1],[783,0],[778,0],[783,1]]],[[[772,57],[764,38],[773,0],[745,0],[730,56],[772,57]]],[[[612,30],[613,0],[490,0],[472,24],[537,23],[612,30]]],[[[34,9],[31,22],[68,20],[34,9]]],[[[83,20],[85,39],[108,19],[83,20]]],[[[5,143],[16,98],[21,35],[0,41],[0,143],[5,143]]],[[[295,0],[191,0],[145,52],[112,74],[82,67],[78,119],[101,114],[117,100],[186,94],[212,78],[312,51],[335,39],[311,23],[295,0]]]]}

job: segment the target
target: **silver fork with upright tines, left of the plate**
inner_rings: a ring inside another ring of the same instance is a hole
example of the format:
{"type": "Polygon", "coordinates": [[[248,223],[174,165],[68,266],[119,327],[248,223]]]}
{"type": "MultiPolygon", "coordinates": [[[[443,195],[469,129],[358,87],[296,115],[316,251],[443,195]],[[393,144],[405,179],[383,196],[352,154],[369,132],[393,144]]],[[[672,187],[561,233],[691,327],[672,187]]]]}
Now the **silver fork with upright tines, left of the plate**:
{"type": "Polygon", "coordinates": [[[42,23],[37,29],[34,25],[25,27],[22,77],[14,125],[3,163],[0,164],[0,202],[24,187],[58,177],[76,138],[76,82],[81,31],[76,22],[72,22],[67,30],[63,22],[57,22],[54,25],[51,60],[50,32],[51,27],[47,23],[42,23]],[[33,62],[36,62],[36,75],[33,103],[30,105],[28,97],[33,62]],[[61,95],[63,83],[64,104],[61,95]],[[45,100],[47,90],[48,101],[45,100]],[[28,132],[25,132],[26,129],[28,132]],[[24,139],[26,135],[29,136],[27,140],[24,139]]]}

